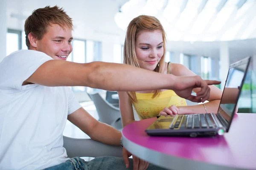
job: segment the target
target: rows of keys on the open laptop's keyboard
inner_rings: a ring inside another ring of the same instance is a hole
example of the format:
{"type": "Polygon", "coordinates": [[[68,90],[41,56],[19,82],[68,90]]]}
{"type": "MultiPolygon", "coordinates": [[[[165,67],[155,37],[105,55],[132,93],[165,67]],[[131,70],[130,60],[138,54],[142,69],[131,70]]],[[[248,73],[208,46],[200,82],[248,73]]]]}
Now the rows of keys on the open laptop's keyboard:
{"type": "Polygon", "coordinates": [[[211,113],[179,115],[176,121],[171,124],[170,129],[198,129],[214,128],[215,122],[211,113]]]}

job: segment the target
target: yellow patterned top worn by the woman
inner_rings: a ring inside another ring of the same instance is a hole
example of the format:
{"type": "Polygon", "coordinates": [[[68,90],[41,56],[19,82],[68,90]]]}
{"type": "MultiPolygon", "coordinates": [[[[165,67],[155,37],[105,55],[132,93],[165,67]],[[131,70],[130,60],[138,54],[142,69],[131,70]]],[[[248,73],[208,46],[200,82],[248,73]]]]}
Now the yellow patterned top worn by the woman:
{"type": "Polygon", "coordinates": [[[136,93],[137,103],[134,108],[141,119],[156,117],[163,108],[171,105],[186,106],[186,100],[172,90],[162,91],[159,96],[152,99],[154,93],[136,93]]]}

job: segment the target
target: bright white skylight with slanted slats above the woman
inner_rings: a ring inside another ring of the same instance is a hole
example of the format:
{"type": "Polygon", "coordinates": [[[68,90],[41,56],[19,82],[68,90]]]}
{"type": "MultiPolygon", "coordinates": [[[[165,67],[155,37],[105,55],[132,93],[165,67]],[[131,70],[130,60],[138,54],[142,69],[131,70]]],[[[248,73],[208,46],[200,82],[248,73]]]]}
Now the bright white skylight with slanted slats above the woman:
{"type": "Polygon", "coordinates": [[[256,0],[130,0],[115,20],[125,30],[140,14],[156,16],[172,41],[245,40],[256,38],[255,9],[256,0]]]}

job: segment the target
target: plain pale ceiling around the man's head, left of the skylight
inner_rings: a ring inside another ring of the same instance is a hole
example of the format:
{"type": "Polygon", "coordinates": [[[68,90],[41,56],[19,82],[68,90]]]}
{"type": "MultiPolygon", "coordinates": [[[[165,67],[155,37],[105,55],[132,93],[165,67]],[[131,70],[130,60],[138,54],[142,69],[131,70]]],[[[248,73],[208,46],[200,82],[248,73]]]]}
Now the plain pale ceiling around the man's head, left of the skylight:
{"type": "Polygon", "coordinates": [[[37,8],[58,5],[73,19],[74,37],[99,39],[109,34],[124,35],[114,15],[127,0],[7,0],[8,28],[23,30],[24,21],[37,8]]]}

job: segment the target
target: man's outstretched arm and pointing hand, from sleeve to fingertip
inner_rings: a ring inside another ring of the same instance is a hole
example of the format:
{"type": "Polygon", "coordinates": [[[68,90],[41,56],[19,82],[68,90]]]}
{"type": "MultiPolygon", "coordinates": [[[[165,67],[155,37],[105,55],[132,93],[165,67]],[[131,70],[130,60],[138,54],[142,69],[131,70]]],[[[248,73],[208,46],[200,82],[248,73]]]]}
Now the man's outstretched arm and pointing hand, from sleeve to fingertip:
{"type": "Polygon", "coordinates": [[[199,76],[176,77],[172,74],[160,74],[124,64],[108,62],[80,64],[49,60],[23,84],[27,83],[45,86],[87,86],[108,91],[172,89],[180,97],[198,102],[208,99],[210,91],[208,85],[220,82],[204,81],[199,76]],[[196,98],[190,95],[193,88],[201,88],[196,98]]]}

